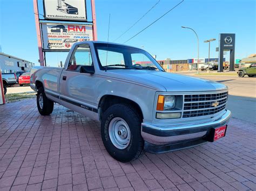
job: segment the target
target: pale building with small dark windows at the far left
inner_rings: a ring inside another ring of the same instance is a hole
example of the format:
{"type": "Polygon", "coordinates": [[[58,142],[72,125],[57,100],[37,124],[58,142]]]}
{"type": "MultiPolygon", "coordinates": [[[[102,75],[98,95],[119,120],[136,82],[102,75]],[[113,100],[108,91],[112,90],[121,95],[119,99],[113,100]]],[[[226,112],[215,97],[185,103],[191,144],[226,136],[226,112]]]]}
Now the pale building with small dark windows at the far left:
{"type": "Polygon", "coordinates": [[[35,66],[35,63],[0,52],[0,69],[2,73],[30,72],[33,66],[35,66]]]}

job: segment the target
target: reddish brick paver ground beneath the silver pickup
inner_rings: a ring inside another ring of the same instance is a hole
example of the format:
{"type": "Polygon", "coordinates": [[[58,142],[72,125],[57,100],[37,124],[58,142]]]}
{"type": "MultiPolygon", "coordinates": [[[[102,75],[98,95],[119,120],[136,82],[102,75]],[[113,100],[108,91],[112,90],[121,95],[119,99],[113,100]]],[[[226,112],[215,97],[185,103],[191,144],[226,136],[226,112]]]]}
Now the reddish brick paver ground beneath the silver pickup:
{"type": "Polygon", "coordinates": [[[225,138],[123,164],[99,123],[35,99],[0,105],[0,190],[256,190],[255,124],[232,119],[225,138]]]}

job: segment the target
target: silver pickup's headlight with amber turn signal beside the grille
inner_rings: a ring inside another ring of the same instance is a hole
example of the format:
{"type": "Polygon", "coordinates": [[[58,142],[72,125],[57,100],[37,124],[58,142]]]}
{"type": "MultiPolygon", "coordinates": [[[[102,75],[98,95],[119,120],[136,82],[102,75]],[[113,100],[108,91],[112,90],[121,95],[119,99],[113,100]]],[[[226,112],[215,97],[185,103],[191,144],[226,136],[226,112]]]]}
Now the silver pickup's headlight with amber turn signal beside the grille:
{"type": "Polygon", "coordinates": [[[157,100],[157,110],[158,111],[170,110],[175,107],[175,104],[176,104],[175,96],[159,95],[157,100]]]}

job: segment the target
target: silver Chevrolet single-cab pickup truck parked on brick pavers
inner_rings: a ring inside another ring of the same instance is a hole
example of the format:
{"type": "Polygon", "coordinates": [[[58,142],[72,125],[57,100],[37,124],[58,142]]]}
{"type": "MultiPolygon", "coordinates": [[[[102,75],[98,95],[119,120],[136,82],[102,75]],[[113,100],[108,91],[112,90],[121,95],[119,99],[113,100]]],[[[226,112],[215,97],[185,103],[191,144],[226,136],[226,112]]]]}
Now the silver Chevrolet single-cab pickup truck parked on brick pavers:
{"type": "Polygon", "coordinates": [[[224,84],[167,73],[136,47],[100,41],[72,46],[64,68],[35,67],[37,108],[53,102],[100,122],[103,144],[122,162],[225,136],[231,112],[224,84]]]}

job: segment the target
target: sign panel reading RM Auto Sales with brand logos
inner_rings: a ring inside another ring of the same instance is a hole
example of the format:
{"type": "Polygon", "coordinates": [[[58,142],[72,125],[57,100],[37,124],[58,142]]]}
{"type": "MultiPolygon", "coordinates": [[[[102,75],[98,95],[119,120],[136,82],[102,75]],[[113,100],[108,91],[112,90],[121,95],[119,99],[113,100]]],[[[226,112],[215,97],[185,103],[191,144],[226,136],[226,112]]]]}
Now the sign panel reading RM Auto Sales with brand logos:
{"type": "Polygon", "coordinates": [[[42,23],[43,48],[69,51],[74,43],[93,40],[91,25],[42,23]]]}

